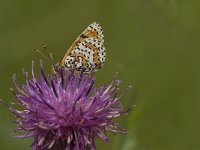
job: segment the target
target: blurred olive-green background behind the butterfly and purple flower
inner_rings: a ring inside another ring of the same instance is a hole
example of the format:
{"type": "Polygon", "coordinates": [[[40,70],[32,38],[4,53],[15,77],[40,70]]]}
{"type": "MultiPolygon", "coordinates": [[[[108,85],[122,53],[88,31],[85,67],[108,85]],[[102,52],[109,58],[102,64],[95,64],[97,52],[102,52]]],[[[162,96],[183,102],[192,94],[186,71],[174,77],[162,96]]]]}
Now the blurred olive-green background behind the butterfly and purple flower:
{"type": "MultiPolygon", "coordinates": [[[[107,48],[98,85],[119,72],[122,89],[133,85],[122,99],[125,109],[137,104],[119,121],[129,134],[110,134],[97,149],[200,150],[199,6],[198,0],[0,0],[0,97],[14,99],[11,77],[23,83],[21,68],[30,71],[41,58],[34,48],[47,45],[59,61],[97,21],[107,48]]],[[[11,136],[13,119],[0,104],[0,149],[30,149],[31,140],[11,136]]]]}

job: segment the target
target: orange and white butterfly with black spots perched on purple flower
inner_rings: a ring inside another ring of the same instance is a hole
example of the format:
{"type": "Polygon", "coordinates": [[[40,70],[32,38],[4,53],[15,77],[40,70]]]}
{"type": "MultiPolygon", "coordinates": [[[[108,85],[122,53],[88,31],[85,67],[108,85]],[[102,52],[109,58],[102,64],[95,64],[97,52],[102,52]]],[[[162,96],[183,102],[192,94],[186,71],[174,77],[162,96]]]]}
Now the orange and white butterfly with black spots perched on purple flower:
{"type": "Polygon", "coordinates": [[[61,68],[90,72],[100,69],[105,62],[104,34],[99,23],[91,23],[74,41],[61,61],[53,65],[53,73],[61,68]]]}

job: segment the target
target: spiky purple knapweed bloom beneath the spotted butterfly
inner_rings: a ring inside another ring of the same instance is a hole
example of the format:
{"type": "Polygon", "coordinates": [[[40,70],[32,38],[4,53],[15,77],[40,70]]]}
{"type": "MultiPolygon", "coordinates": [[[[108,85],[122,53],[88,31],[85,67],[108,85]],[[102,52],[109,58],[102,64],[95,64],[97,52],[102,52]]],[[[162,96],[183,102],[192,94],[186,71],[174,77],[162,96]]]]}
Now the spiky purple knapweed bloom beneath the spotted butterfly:
{"type": "Polygon", "coordinates": [[[13,77],[20,107],[9,107],[17,117],[17,137],[34,138],[33,150],[95,150],[96,138],[107,142],[107,132],[126,133],[113,120],[127,114],[117,95],[119,80],[97,88],[94,72],[61,69],[45,75],[40,69],[39,78],[34,69],[30,78],[24,71],[22,86],[13,77]]]}

